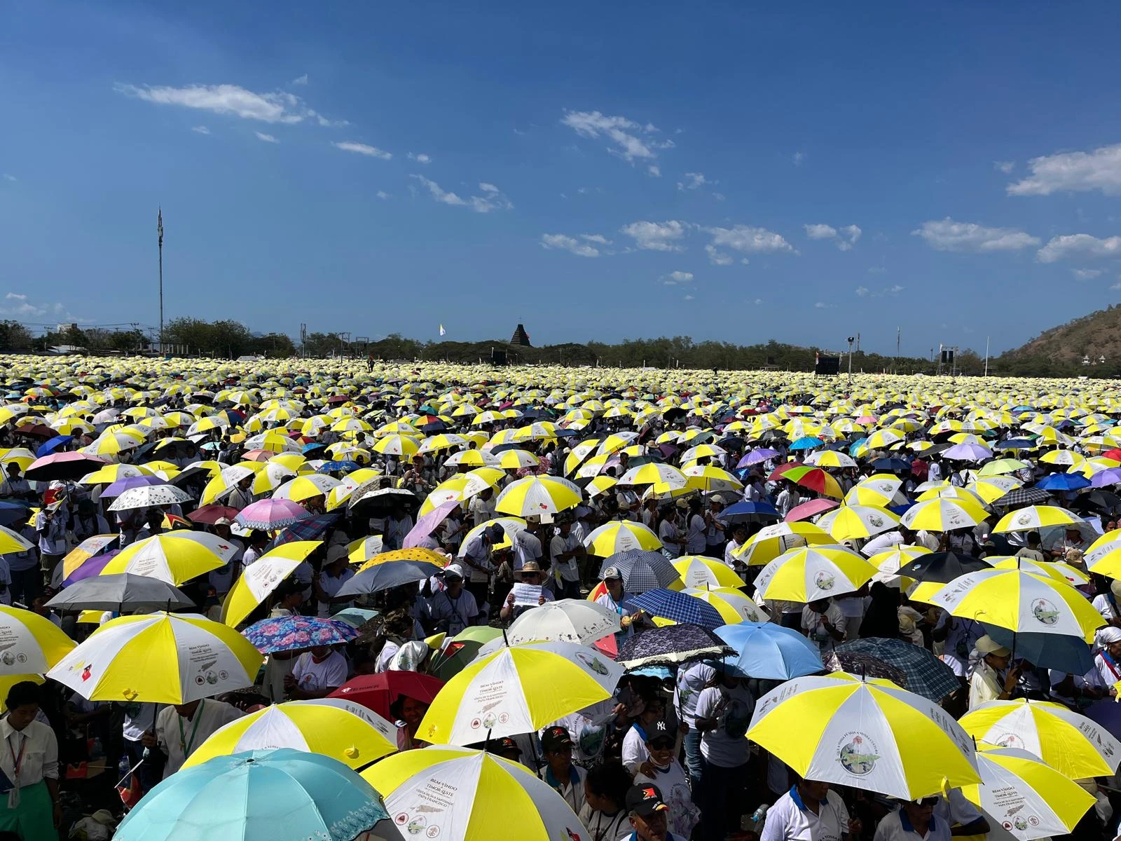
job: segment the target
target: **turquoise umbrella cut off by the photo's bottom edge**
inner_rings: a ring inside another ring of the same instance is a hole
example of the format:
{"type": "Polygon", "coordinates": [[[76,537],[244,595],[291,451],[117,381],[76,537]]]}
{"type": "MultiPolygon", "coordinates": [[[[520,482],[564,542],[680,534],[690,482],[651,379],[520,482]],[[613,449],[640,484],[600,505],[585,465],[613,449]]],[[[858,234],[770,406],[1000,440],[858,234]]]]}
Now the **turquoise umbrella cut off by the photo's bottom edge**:
{"type": "Polygon", "coordinates": [[[176,771],[129,812],[113,838],[353,841],[387,816],[381,795],[337,759],[279,748],[176,771]]]}

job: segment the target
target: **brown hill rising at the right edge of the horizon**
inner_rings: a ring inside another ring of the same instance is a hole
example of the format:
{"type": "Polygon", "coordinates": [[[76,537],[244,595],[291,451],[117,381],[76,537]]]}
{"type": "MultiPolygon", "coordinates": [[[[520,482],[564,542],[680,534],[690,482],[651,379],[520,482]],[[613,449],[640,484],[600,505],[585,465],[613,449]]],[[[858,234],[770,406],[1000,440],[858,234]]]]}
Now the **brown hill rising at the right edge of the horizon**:
{"type": "Polygon", "coordinates": [[[1121,371],[1121,307],[1111,304],[1106,309],[1045,330],[1003,353],[997,362],[1008,373],[1117,376],[1121,371]],[[1084,358],[1091,363],[1083,364],[1084,358]]]}

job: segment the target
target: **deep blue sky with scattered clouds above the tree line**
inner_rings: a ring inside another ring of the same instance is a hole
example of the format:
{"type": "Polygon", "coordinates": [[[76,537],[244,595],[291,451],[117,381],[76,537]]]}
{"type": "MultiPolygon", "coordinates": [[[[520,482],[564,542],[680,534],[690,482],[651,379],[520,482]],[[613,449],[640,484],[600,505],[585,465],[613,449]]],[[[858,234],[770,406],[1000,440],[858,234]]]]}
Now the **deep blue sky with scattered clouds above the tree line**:
{"type": "Polygon", "coordinates": [[[1121,302],[1121,11],[0,7],[0,311],[983,352],[1121,302]]]}

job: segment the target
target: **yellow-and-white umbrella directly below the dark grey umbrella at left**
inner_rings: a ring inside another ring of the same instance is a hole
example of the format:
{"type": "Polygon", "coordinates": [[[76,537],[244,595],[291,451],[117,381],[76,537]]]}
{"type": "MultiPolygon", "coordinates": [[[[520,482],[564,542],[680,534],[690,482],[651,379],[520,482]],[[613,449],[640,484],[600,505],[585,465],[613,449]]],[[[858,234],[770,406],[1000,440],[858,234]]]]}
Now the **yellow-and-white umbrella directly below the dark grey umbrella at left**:
{"type": "Polygon", "coordinates": [[[185,704],[251,686],[262,659],[221,622],[159,612],[109,620],[47,677],[91,701],[185,704]]]}

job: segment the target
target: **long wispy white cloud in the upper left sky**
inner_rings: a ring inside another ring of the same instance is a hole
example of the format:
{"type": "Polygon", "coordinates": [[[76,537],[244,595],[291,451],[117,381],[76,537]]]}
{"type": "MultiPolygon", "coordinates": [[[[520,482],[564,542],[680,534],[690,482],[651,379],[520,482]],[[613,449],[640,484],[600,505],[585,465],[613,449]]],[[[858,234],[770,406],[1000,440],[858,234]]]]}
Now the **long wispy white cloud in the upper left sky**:
{"type": "Polygon", "coordinates": [[[328,120],[308,108],[299,96],[285,91],[254,93],[241,85],[229,84],[186,87],[117,84],[114,90],[157,105],[179,105],[261,122],[294,123],[315,120],[319,126],[345,124],[345,121],[328,120]]]}

